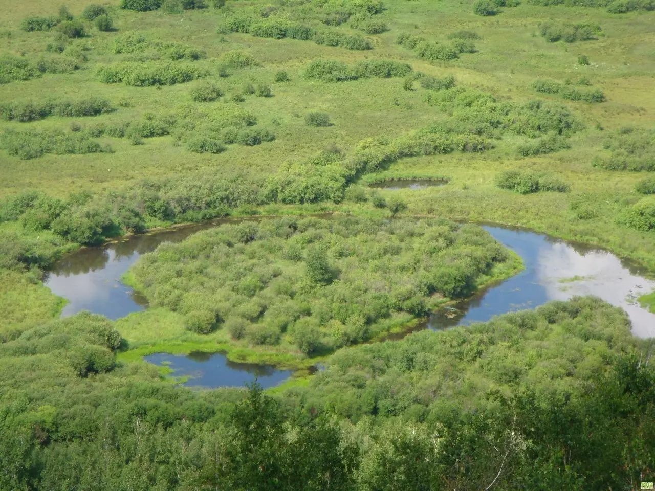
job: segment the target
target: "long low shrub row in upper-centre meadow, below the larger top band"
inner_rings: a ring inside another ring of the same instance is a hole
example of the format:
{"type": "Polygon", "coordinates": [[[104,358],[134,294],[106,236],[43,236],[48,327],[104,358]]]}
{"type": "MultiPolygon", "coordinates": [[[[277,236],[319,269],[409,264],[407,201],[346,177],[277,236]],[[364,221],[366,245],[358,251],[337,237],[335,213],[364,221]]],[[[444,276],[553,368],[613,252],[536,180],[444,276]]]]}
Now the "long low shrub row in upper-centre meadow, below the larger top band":
{"type": "Polygon", "coordinates": [[[307,65],[305,76],[323,82],[341,82],[369,77],[406,77],[411,72],[408,64],[392,60],[364,60],[352,67],[337,60],[314,60],[307,65]]]}

